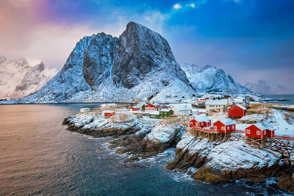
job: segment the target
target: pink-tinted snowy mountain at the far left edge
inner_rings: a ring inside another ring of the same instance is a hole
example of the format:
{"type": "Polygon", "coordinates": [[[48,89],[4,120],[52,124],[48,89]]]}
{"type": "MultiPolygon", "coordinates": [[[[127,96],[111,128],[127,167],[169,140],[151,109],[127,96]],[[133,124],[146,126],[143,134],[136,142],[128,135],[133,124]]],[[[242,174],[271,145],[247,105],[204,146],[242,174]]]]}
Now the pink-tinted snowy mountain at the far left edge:
{"type": "Polygon", "coordinates": [[[57,71],[37,58],[9,61],[0,56],[0,99],[23,98],[38,91],[57,71]]]}

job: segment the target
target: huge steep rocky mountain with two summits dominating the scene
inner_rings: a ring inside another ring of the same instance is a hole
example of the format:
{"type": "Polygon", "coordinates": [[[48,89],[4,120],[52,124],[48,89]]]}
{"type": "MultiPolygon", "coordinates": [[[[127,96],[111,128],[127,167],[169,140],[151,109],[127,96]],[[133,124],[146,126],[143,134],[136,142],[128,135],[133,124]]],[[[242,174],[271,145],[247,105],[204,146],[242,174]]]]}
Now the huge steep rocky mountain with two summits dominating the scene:
{"type": "Polygon", "coordinates": [[[57,75],[17,102],[124,102],[151,95],[151,101],[174,101],[193,94],[167,40],[130,22],[119,38],[98,33],[81,39],[57,75]]]}

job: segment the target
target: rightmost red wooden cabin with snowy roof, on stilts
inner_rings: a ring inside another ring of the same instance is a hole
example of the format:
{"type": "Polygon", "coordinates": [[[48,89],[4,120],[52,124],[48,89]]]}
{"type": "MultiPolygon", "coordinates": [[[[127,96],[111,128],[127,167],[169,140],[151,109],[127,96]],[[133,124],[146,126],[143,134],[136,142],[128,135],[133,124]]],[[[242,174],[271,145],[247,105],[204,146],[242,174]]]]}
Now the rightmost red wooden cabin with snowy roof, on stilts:
{"type": "Polygon", "coordinates": [[[245,136],[259,139],[273,137],[274,129],[266,122],[254,123],[245,129],[245,136]]]}

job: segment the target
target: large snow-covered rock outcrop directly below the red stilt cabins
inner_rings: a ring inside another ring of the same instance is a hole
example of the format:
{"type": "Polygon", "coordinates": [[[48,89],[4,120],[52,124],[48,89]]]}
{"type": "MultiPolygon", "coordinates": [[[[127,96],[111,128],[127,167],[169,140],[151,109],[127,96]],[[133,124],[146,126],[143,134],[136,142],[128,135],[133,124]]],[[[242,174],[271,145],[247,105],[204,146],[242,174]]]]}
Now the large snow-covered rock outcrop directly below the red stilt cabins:
{"type": "Polygon", "coordinates": [[[272,147],[269,140],[265,147],[258,147],[248,146],[243,136],[238,134],[224,143],[216,143],[186,133],[177,144],[175,159],[167,163],[166,168],[175,171],[196,168],[195,173],[190,172],[192,176],[210,183],[238,179],[265,181],[268,177],[277,177],[291,170],[289,151],[284,147],[290,143],[285,145],[273,141],[279,145],[272,147]]]}

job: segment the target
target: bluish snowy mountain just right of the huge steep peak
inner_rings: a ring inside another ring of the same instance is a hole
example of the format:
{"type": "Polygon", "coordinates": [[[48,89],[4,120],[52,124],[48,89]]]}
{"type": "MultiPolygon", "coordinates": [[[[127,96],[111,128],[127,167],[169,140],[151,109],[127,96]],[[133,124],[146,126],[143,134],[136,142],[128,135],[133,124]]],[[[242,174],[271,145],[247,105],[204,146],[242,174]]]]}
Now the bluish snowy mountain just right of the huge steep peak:
{"type": "Polygon", "coordinates": [[[249,89],[235,82],[232,76],[214,66],[197,67],[182,63],[180,67],[198,93],[250,93],[249,89]]]}

